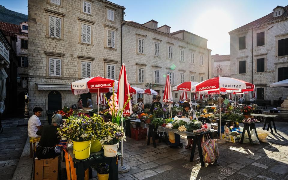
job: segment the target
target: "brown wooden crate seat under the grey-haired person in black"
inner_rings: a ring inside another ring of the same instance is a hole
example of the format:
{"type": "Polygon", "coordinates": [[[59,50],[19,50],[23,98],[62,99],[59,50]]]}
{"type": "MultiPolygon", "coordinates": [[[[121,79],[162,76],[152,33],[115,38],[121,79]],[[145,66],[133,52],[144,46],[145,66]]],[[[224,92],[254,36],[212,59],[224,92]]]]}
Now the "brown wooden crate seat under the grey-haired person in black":
{"type": "Polygon", "coordinates": [[[60,177],[61,155],[34,161],[34,180],[57,180],[60,177]]]}

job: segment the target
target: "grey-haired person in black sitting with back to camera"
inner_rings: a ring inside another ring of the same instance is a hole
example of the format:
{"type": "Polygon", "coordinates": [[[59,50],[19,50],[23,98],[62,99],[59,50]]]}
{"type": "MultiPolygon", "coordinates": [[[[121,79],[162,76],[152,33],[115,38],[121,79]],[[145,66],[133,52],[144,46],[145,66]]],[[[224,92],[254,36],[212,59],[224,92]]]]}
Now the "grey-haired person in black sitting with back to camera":
{"type": "Polygon", "coordinates": [[[53,125],[46,125],[37,131],[37,135],[41,136],[39,146],[36,149],[36,157],[39,159],[55,158],[60,155],[55,147],[60,142],[57,128],[62,123],[62,116],[54,114],[52,116],[52,123],[53,125]]]}

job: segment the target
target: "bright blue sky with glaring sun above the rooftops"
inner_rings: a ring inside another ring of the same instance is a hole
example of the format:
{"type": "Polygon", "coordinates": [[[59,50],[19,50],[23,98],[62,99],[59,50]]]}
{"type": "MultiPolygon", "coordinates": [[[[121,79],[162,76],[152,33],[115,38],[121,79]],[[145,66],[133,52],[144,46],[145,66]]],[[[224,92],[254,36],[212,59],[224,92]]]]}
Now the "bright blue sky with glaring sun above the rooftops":
{"type": "MultiPolygon", "coordinates": [[[[185,29],[208,39],[211,55],[230,54],[228,32],[259,19],[287,0],[110,0],[124,6],[125,20],[145,23],[154,19],[158,27],[167,24],[170,32],[185,29]]],[[[5,8],[28,14],[26,0],[0,0],[5,8]]],[[[93,10],[93,9],[92,9],[93,10]]]]}

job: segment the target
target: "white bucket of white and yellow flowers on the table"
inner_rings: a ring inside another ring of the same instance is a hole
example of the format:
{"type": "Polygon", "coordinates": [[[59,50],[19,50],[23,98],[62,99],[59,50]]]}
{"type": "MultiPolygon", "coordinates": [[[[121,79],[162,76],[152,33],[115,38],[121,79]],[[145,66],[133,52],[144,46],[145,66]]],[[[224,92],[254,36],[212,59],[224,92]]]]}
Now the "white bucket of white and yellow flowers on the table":
{"type": "Polygon", "coordinates": [[[100,137],[100,144],[104,149],[104,156],[114,157],[117,155],[117,149],[119,148],[119,142],[125,140],[124,128],[117,123],[105,122],[98,128],[100,137]]]}

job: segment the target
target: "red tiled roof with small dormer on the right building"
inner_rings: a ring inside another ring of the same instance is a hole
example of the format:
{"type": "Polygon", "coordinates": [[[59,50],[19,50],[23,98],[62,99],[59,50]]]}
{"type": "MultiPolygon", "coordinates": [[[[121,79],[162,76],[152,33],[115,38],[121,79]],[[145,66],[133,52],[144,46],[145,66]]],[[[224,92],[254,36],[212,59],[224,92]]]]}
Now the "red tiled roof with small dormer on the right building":
{"type": "Polygon", "coordinates": [[[266,24],[268,22],[273,22],[273,21],[278,20],[278,19],[286,18],[286,17],[288,17],[288,5],[283,7],[283,9],[285,10],[285,12],[281,16],[274,17],[273,16],[274,12],[271,12],[271,13],[267,14],[266,16],[261,17],[261,18],[255,20],[255,21],[252,21],[252,22],[250,22],[250,23],[248,23],[248,24],[246,24],[244,26],[241,26],[241,27],[239,27],[237,29],[234,29],[231,32],[236,32],[236,31],[239,31],[239,30],[248,29],[248,28],[251,28],[251,27],[255,27],[255,26],[262,25],[262,24],[266,24]]]}

